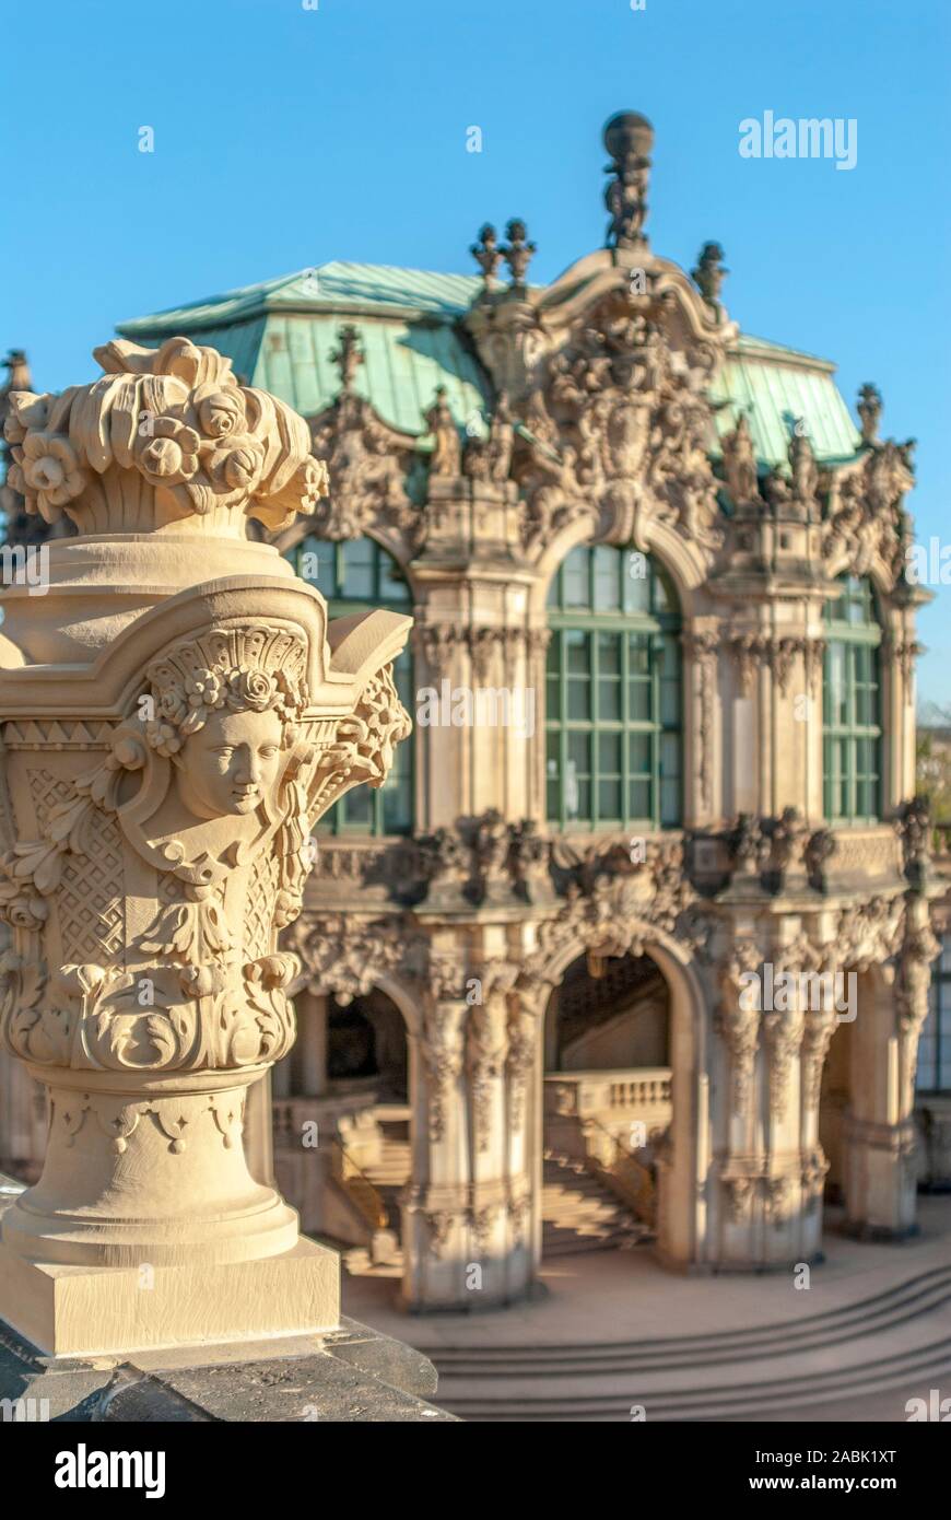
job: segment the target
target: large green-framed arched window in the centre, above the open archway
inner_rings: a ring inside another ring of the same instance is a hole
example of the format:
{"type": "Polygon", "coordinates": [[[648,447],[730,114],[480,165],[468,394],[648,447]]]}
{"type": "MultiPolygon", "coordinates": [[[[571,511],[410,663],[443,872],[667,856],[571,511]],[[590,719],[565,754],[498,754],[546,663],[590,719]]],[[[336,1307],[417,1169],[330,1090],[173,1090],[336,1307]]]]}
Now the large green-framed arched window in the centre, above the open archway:
{"type": "Polygon", "coordinates": [[[548,593],[547,812],[562,828],[681,822],[681,614],[664,572],[573,549],[548,593]]]}

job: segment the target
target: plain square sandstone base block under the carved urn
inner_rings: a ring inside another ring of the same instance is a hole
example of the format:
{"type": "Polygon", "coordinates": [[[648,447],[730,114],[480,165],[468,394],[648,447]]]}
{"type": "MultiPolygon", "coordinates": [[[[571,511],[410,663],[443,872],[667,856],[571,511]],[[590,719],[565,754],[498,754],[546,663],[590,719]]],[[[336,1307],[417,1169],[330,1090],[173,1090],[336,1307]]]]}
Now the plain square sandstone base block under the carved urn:
{"type": "Polygon", "coordinates": [[[0,1319],[53,1357],[313,1335],[340,1322],[340,1259],[301,1239],[257,1262],[59,1266],[0,1242],[0,1319]]]}

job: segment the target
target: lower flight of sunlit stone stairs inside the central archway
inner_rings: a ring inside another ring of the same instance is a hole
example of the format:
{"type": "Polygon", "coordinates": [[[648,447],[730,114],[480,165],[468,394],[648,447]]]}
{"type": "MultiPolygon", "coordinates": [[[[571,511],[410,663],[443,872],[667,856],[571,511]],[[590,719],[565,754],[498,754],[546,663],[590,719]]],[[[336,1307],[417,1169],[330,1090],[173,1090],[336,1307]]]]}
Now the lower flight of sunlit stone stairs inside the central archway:
{"type": "Polygon", "coordinates": [[[650,1239],[582,1161],[545,1149],[542,1166],[542,1260],[577,1251],[626,1249],[650,1239]]]}

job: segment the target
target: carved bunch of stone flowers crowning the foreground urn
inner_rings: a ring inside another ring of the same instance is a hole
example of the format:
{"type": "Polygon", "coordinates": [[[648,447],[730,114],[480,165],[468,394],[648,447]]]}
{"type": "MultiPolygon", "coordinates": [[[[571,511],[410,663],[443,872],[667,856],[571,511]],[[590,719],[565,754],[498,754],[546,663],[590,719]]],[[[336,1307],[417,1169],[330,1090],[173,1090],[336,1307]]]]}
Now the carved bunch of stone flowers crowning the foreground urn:
{"type": "Polygon", "coordinates": [[[11,392],[11,483],[27,512],[55,521],[65,511],[81,534],[149,532],[191,514],[257,517],[276,530],[327,496],[304,420],[240,386],[213,348],[117,340],[96,359],[106,375],[91,386],[11,392]]]}

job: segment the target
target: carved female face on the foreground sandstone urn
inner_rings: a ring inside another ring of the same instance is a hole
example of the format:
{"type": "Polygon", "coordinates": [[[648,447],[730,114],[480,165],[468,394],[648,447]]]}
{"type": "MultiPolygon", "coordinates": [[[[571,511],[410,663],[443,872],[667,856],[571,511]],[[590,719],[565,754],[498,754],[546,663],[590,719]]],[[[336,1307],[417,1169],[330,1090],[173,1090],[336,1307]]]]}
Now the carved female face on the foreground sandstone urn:
{"type": "Polygon", "coordinates": [[[210,713],[175,755],[178,790],[196,818],[252,813],[275,786],[284,725],[278,713],[210,713]]]}

